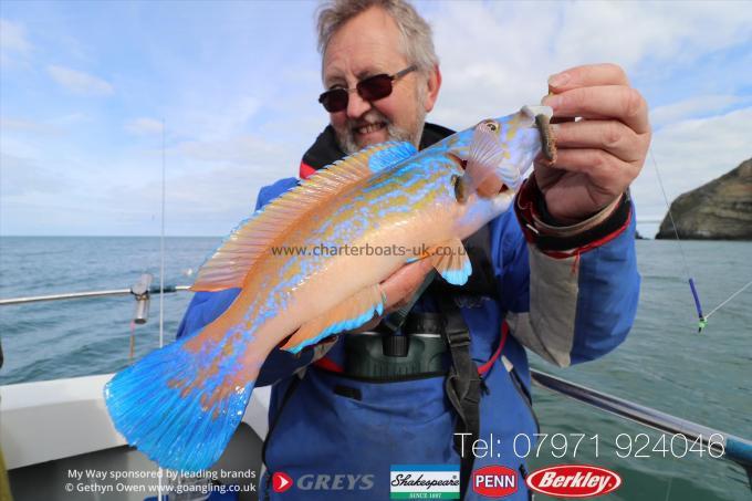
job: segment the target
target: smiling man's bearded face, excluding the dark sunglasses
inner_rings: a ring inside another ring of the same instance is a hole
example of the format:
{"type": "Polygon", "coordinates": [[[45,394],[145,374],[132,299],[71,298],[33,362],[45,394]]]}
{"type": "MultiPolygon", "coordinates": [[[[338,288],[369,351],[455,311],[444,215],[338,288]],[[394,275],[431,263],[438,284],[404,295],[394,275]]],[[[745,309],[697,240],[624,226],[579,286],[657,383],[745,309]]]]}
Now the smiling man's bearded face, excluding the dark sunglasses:
{"type": "MultiPolygon", "coordinates": [[[[326,48],[325,87],[355,88],[368,76],[390,75],[406,69],[412,62],[401,54],[399,41],[399,29],[379,8],[351,19],[334,33],[326,48]]],[[[410,72],[394,81],[393,87],[390,95],[370,103],[357,92],[351,92],[347,108],[330,113],[337,142],[345,153],[389,139],[409,140],[418,146],[426,113],[432,107],[432,98],[427,97],[425,88],[426,77],[410,72]]]]}

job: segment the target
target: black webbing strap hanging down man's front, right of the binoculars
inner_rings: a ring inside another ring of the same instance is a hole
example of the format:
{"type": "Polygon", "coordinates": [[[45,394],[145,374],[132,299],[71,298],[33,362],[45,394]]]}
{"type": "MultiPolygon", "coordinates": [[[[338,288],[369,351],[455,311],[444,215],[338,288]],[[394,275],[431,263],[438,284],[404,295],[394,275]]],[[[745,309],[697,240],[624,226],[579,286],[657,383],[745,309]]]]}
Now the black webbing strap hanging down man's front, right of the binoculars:
{"type": "Polygon", "coordinates": [[[447,397],[457,411],[455,426],[455,450],[460,455],[460,499],[464,499],[472,474],[474,456],[471,447],[480,435],[480,393],[481,378],[478,366],[470,356],[470,331],[464,324],[462,313],[452,296],[437,298],[445,314],[443,336],[451,355],[451,368],[446,380],[447,397]],[[464,452],[464,453],[462,453],[464,452]]]}

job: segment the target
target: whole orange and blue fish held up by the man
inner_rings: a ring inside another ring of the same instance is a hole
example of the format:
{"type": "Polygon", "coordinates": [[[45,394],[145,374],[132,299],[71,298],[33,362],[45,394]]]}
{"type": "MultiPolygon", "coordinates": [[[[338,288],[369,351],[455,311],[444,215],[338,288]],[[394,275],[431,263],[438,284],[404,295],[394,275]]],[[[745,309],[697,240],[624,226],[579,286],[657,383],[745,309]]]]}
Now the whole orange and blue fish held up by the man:
{"type": "Polygon", "coordinates": [[[467,281],[472,270],[461,240],[510,207],[542,139],[552,154],[547,128],[535,125],[551,115],[523,107],[420,153],[409,143],[376,145],[257,211],[192,286],[241,288],[238,298],[203,330],[107,383],[115,427],[163,467],[211,466],[280,342],[291,336],[283,349],[297,353],[380,315],[378,284],[417,259],[430,260],[452,284],[467,281]]]}

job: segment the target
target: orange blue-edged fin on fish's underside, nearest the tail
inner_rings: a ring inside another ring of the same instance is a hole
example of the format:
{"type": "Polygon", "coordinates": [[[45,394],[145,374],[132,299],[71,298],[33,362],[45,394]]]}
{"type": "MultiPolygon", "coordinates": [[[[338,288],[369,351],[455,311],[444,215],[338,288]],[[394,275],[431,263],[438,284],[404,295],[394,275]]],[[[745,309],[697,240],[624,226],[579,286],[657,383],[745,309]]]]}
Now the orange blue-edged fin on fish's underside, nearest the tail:
{"type": "Polygon", "coordinates": [[[378,284],[363,289],[323,315],[303,324],[282,349],[299,353],[326,336],[357,328],[374,315],[384,313],[384,303],[385,298],[378,284]]]}

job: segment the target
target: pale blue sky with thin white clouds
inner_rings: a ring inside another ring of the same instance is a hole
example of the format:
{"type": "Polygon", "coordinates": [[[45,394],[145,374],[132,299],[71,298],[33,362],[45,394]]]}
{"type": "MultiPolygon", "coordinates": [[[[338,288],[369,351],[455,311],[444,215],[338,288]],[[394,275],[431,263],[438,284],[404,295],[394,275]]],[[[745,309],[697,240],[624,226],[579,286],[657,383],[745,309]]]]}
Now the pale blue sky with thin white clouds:
{"type": "MultiPolygon", "coordinates": [[[[223,236],[327,123],[314,1],[0,2],[0,236],[223,236]],[[164,124],[164,134],[163,134],[164,124]]],[[[669,199],[752,157],[744,1],[416,2],[443,83],[430,122],[536,104],[613,62],[645,96],[669,199]]],[[[666,213],[648,158],[638,229],[666,213]]]]}

